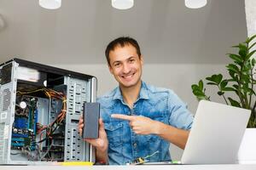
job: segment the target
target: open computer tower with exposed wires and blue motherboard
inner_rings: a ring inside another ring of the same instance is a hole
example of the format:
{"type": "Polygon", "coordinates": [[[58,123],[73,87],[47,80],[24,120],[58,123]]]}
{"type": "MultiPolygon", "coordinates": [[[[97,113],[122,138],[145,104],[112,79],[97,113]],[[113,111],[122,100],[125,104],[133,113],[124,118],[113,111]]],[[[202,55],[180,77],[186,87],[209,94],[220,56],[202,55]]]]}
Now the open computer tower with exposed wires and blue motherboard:
{"type": "Polygon", "coordinates": [[[95,161],[78,132],[96,77],[11,59],[0,65],[0,164],[95,161]]]}

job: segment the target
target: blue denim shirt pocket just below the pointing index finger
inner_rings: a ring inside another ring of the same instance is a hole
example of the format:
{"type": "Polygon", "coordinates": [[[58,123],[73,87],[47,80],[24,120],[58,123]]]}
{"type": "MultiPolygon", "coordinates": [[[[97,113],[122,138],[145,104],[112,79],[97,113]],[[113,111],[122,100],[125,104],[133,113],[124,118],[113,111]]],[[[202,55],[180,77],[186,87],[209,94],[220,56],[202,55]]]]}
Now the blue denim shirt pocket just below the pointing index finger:
{"type": "Polygon", "coordinates": [[[122,144],[123,124],[119,122],[105,123],[105,130],[108,135],[108,144],[110,147],[122,144]]]}

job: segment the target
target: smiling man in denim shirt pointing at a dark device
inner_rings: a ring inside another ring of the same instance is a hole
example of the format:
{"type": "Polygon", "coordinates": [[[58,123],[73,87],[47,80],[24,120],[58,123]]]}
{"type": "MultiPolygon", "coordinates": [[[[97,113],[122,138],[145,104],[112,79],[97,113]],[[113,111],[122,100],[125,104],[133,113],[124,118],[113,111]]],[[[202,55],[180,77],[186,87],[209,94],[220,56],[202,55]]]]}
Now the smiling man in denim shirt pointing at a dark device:
{"type": "MultiPolygon", "coordinates": [[[[96,161],[171,161],[170,143],[185,147],[193,116],[172,90],[141,80],[143,55],[136,40],[119,37],[108,44],[105,54],[119,87],[98,99],[99,138],[84,139],[96,147],[96,161]]],[[[83,126],[81,118],[80,133],[83,126]]]]}

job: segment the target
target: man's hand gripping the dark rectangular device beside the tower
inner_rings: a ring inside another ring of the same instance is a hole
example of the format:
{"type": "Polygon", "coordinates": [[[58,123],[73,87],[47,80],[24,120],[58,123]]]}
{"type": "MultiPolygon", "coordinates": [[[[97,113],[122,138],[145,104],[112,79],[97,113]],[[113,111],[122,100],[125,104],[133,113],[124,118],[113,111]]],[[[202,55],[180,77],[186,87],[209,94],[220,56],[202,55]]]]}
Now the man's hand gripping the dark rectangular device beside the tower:
{"type": "MultiPolygon", "coordinates": [[[[79,119],[79,133],[82,135],[84,127],[83,116],[80,116],[79,119]]],[[[84,141],[92,144],[96,147],[96,150],[105,152],[108,150],[108,138],[107,133],[104,129],[104,123],[102,122],[102,118],[99,119],[99,138],[98,139],[84,139],[84,141]]]]}

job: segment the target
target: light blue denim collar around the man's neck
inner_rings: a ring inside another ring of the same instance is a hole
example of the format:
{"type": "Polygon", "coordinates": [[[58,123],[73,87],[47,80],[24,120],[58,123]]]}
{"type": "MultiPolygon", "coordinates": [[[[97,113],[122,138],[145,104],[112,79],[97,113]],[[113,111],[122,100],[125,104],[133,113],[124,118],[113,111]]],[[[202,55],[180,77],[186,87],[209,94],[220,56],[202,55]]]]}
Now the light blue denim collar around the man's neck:
{"type": "MultiPolygon", "coordinates": [[[[123,96],[121,94],[121,90],[119,87],[114,89],[113,99],[120,99],[121,101],[123,101],[123,96]]],[[[140,90],[140,94],[139,94],[139,97],[137,100],[139,100],[139,99],[149,99],[148,98],[148,87],[147,87],[147,84],[143,81],[142,81],[142,87],[140,90]]]]}

